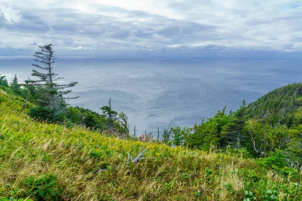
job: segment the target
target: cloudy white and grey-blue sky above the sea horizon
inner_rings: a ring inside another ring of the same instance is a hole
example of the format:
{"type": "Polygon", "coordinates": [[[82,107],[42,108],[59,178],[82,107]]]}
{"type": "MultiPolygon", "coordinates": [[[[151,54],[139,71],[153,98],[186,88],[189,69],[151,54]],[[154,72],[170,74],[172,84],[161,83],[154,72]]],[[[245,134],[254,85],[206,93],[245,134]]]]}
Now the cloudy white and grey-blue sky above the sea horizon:
{"type": "Polygon", "coordinates": [[[300,57],[302,1],[0,0],[0,35],[0,55],[300,57]]]}

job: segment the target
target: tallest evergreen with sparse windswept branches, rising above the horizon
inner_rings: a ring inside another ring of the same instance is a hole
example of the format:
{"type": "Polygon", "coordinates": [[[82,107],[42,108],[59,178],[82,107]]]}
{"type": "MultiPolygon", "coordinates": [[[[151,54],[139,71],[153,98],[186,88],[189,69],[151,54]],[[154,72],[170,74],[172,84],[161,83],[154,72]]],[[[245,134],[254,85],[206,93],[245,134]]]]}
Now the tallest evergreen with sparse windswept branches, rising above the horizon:
{"type": "Polygon", "coordinates": [[[78,82],[70,82],[68,84],[58,84],[56,82],[59,79],[63,79],[63,77],[58,77],[58,74],[53,72],[52,64],[57,57],[54,56],[51,46],[52,44],[39,46],[41,50],[33,55],[36,57],[34,61],[38,64],[32,65],[42,71],[33,70],[32,76],[39,79],[31,81],[31,83],[34,83],[35,87],[39,90],[39,102],[41,106],[51,108],[52,117],[54,118],[61,109],[66,109],[64,100],[70,99],[70,97],[63,97],[63,95],[71,92],[71,90],[65,90],[65,88],[72,87],[78,82]]]}

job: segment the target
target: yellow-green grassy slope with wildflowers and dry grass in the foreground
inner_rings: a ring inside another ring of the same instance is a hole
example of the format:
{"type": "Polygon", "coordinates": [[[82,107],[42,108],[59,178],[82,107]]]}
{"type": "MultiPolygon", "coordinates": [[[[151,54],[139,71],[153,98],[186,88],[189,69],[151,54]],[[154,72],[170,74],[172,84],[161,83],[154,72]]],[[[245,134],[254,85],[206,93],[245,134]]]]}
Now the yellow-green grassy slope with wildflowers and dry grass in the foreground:
{"type": "MultiPolygon", "coordinates": [[[[0,91],[0,197],[32,200],[299,200],[301,172],[244,151],[210,153],[34,122],[0,91]],[[145,150],[137,163],[127,163],[145,150]],[[107,169],[98,172],[98,169],[107,169]]],[[[29,105],[30,106],[30,105],[29,105]]],[[[0,199],[1,200],[1,199],[0,199]]],[[[5,200],[5,199],[3,199],[5,200]]]]}

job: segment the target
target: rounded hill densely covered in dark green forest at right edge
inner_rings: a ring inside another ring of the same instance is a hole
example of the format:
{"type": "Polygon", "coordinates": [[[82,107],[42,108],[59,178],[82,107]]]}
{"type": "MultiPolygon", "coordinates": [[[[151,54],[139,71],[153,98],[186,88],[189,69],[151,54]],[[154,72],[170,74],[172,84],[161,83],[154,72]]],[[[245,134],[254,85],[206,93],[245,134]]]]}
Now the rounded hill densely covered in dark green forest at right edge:
{"type": "Polygon", "coordinates": [[[302,83],[277,88],[250,104],[246,117],[288,127],[302,123],[302,83]]]}

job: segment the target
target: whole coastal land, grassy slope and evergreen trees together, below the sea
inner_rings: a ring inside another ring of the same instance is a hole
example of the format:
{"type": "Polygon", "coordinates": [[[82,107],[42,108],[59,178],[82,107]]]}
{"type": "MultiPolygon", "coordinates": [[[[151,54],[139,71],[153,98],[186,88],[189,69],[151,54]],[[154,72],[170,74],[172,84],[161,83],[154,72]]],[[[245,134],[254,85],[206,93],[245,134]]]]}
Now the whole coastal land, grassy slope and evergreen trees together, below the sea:
{"type": "Polygon", "coordinates": [[[193,128],[169,125],[162,133],[138,135],[135,127],[130,131],[127,115],[113,110],[109,97],[108,105],[100,106],[101,114],[68,105],[68,99],[81,98],[68,96],[78,82],[61,84],[52,45],[39,48],[33,55],[35,79],[19,82],[17,75],[12,80],[0,75],[0,146],[5,147],[0,173],[8,175],[0,176],[0,200],[300,198],[301,83],[277,88],[254,103],[243,100],[236,111],[226,113],[225,106],[193,128]],[[35,163],[53,171],[30,172],[35,163]],[[80,173],[70,169],[75,167],[80,173]],[[20,178],[13,173],[17,170],[23,172],[20,178]],[[67,171],[79,178],[72,180],[67,171]]]}

